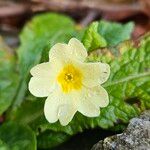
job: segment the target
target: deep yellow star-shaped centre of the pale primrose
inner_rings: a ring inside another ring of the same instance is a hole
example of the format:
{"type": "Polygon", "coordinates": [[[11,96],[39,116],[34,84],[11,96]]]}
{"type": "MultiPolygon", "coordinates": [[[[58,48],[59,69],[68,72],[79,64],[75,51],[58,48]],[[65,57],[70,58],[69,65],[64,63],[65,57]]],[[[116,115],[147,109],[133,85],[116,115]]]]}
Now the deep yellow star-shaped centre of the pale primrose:
{"type": "Polygon", "coordinates": [[[68,64],[58,74],[57,81],[64,93],[68,93],[73,89],[80,90],[82,87],[82,73],[72,64],[68,64]]]}

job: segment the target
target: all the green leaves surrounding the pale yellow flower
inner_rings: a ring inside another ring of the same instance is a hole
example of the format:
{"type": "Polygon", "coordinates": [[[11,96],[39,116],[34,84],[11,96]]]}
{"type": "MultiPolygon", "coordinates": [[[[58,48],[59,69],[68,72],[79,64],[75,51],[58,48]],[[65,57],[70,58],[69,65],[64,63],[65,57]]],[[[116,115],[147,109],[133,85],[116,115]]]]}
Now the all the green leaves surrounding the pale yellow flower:
{"type": "Polygon", "coordinates": [[[81,38],[83,31],[79,33],[75,23],[63,15],[42,14],[27,23],[20,35],[18,65],[14,55],[9,55],[4,48],[0,51],[0,104],[3,104],[0,105],[0,113],[6,112],[7,121],[19,122],[4,123],[0,127],[0,148],[19,148],[21,143],[24,149],[29,146],[29,150],[34,150],[36,141],[38,148],[52,148],[85,129],[110,129],[118,127],[118,123],[120,126],[126,125],[131,118],[149,109],[150,35],[143,37],[138,47],[128,46],[124,41],[130,39],[133,26],[133,23],[122,25],[102,20],[83,29],[85,32],[81,38]],[[101,109],[99,117],[87,118],[77,113],[69,125],[63,127],[59,122],[49,124],[46,121],[43,114],[45,99],[33,97],[27,84],[31,67],[48,60],[48,51],[52,45],[67,42],[71,37],[80,37],[90,52],[103,47],[107,48],[107,52],[112,47],[115,51],[124,52],[112,59],[107,59],[106,53],[99,56],[92,52],[93,57],[87,61],[106,61],[111,66],[111,76],[103,85],[109,93],[110,104],[101,109]],[[118,47],[120,42],[124,44],[118,47]],[[12,132],[5,135],[9,128],[12,132]],[[10,136],[14,138],[10,139],[10,136]]]}

